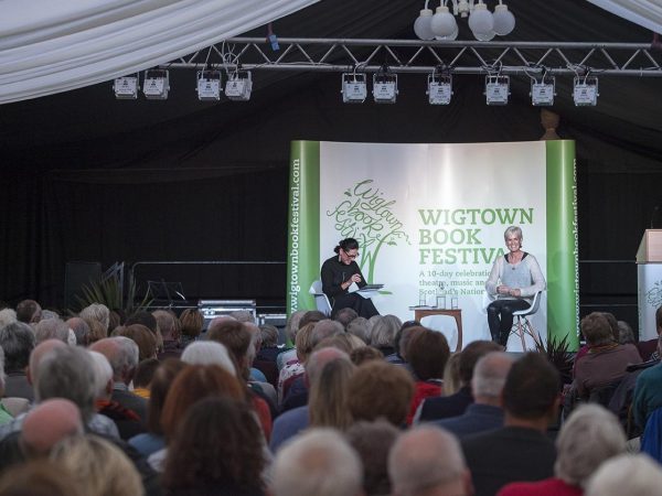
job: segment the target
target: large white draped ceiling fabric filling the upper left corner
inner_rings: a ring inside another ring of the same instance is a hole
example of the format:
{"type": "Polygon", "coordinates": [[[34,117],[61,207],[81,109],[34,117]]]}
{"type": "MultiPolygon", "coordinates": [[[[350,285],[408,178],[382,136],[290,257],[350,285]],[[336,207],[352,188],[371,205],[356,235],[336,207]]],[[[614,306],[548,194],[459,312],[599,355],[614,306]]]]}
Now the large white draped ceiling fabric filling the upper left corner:
{"type": "Polygon", "coordinates": [[[317,1],[0,0],[0,104],[137,73],[317,1]]]}

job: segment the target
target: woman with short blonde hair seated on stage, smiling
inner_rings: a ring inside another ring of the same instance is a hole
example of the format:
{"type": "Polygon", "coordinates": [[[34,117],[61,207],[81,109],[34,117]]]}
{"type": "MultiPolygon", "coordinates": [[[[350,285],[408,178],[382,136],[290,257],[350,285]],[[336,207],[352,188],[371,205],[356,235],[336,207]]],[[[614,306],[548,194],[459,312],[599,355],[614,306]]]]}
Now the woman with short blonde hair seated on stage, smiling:
{"type": "Polygon", "coordinates": [[[503,238],[508,252],[494,261],[485,290],[490,296],[496,296],[488,305],[492,339],[505,346],[513,326],[513,312],[528,309],[535,293],[545,290],[546,282],[535,257],[522,251],[522,229],[511,226],[503,238]]]}

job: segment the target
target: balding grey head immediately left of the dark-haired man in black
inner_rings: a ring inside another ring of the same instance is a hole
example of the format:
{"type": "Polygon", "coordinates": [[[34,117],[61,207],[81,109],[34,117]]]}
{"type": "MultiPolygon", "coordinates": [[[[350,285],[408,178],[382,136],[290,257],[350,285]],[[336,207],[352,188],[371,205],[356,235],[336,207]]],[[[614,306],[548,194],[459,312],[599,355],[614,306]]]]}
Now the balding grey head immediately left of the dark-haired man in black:
{"type": "Polygon", "coordinates": [[[490,352],[479,358],[471,379],[471,393],[476,402],[501,406],[505,379],[514,358],[504,352],[490,352]]]}

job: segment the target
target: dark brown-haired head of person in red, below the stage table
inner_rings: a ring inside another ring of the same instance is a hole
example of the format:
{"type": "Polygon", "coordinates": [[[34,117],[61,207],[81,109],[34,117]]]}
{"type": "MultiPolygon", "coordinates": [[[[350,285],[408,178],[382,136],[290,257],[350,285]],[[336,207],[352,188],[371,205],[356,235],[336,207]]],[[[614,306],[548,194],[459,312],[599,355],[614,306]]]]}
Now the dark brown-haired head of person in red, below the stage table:
{"type": "MultiPolygon", "coordinates": [[[[412,327],[416,328],[416,327],[412,327]]],[[[419,327],[407,345],[407,362],[418,380],[441,379],[450,356],[450,348],[444,334],[419,327]]]]}

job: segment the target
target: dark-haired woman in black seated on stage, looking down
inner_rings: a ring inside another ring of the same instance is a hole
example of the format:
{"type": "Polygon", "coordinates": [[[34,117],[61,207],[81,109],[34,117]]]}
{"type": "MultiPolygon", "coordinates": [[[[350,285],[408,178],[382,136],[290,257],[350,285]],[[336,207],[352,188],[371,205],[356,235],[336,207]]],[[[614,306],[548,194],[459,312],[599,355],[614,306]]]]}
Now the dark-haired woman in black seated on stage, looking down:
{"type": "Polygon", "coordinates": [[[378,315],[377,309],[371,299],[356,293],[350,293],[349,288],[353,282],[359,288],[366,282],[356,263],[359,257],[359,241],[353,238],[343,239],[333,249],[335,256],[322,263],[322,291],[331,302],[331,315],[334,316],[340,309],[353,309],[359,316],[370,319],[378,315]]]}

